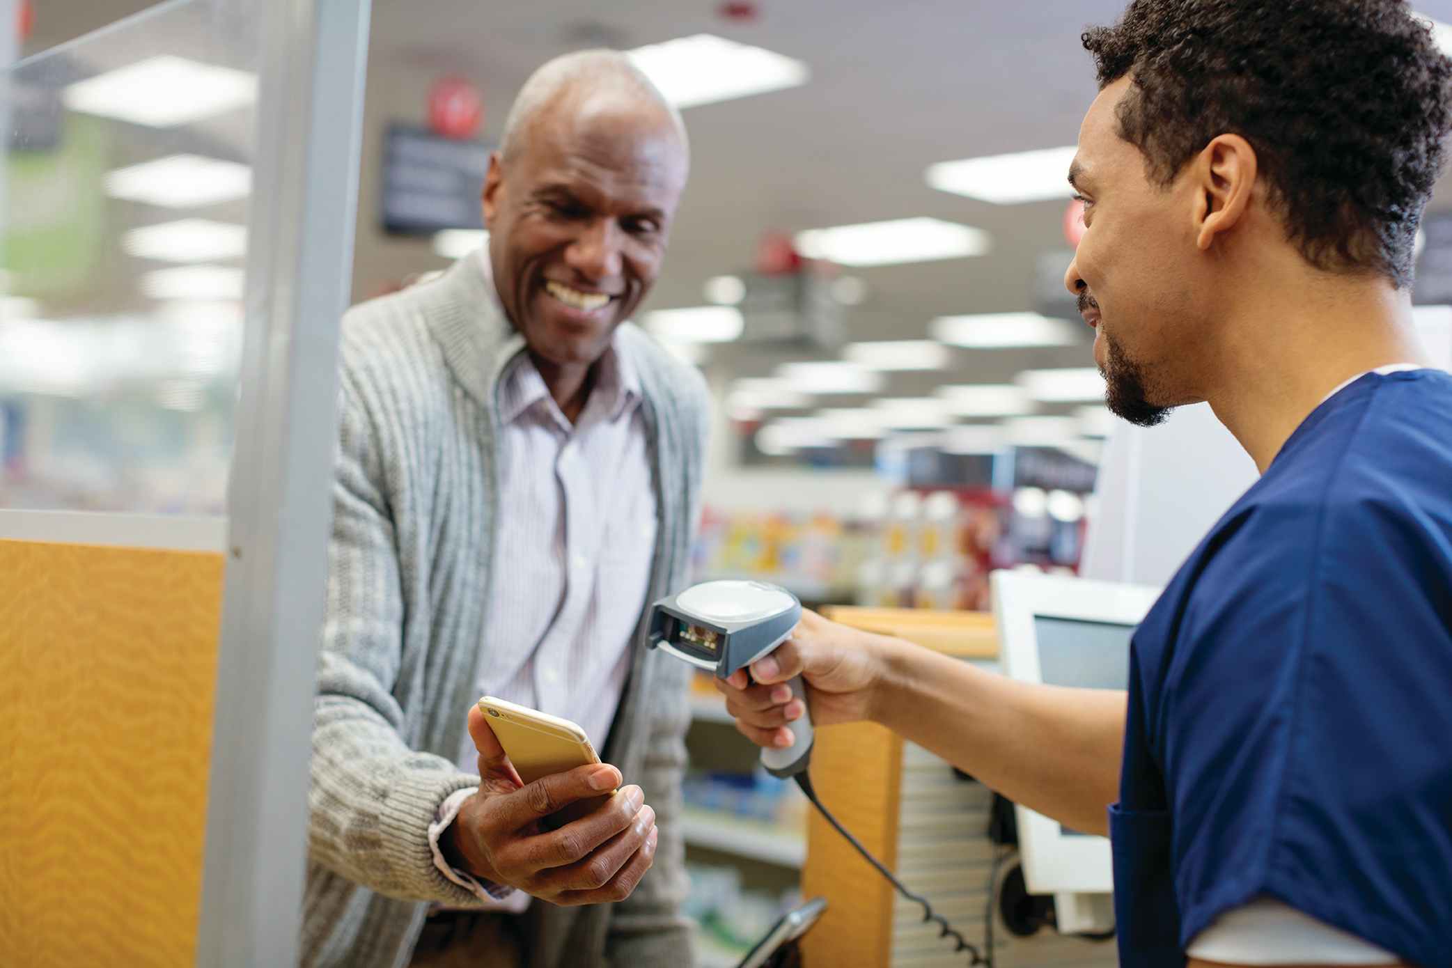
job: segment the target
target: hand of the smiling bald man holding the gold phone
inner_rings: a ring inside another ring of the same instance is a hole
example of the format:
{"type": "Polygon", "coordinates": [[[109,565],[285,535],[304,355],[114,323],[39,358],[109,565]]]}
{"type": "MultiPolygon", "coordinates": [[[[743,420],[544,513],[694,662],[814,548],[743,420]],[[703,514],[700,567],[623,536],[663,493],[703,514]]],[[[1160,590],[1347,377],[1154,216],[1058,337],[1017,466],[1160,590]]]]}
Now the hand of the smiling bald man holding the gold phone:
{"type": "Polygon", "coordinates": [[[624,787],[590,816],[546,830],[540,821],[552,813],[620,787],[620,771],[576,766],[521,784],[478,707],[469,710],[469,736],[479,750],[479,792],[441,837],[450,864],[552,904],[630,897],[655,861],[659,837],[643,791],[624,787]]]}

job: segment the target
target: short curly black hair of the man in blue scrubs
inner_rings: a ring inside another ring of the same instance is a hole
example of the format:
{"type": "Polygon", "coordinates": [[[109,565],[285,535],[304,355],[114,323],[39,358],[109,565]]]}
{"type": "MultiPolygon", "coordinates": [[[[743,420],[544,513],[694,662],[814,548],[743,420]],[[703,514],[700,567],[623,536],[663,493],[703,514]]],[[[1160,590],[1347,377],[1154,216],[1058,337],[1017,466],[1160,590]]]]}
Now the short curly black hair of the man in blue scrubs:
{"type": "Polygon", "coordinates": [[[1133,0],[1083,44],[1101,87],[1131,77],[1119,134],[1151,180],[1237,134],[1313,266],[1411,282],[1452,60],[1403,0],[1133,0]]]}

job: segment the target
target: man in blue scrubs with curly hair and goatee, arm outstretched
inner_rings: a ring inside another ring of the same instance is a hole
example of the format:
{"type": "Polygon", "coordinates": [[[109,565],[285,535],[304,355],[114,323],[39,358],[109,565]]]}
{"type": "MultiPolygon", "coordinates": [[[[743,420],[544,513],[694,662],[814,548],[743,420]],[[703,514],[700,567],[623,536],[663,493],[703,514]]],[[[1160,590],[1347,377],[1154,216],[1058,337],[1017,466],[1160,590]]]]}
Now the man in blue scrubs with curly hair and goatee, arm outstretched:
{"type": "Polygon", "coordinates": [[[1108,833],[1124,965],[1452,965],[1452,376],[1410,305],[1452,61],[1397,0],[1135,0],[1085,46],[1066,282],[1109,406],[1208,401],[1260,480],[1135,633],[1127,697],[809,614],[727,705],[787,745],[802,672],[815,723],[1108,833]]]}

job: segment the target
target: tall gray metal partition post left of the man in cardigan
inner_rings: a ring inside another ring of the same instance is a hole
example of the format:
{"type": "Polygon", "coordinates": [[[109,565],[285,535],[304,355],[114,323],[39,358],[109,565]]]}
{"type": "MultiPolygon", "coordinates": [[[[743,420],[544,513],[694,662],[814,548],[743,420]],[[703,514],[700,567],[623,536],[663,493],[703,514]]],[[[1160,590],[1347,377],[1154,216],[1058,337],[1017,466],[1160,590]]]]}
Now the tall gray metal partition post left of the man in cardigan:
{"type": "Polygon", "coordinates": [[[199,965],[298,962],[369,0],[264,4],[199,965]]]}

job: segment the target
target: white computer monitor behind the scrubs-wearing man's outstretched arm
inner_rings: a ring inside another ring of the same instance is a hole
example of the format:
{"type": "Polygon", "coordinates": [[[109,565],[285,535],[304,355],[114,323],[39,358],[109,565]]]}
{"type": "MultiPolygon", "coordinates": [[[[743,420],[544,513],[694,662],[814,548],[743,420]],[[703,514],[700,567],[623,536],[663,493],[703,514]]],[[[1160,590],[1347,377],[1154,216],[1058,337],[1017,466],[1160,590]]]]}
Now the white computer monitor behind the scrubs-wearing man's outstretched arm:
{"type": "MultiPolygon", "coordinates": [[[[996,572],[993,618],[1003,672],[1021,682],[1125,689],[1130,639],[1160,589],[1082,578],[996,572]]],[[[1015,805],[1018,850],[1031,894],[1108,894],[1109,840],[1015,805]]]]}

